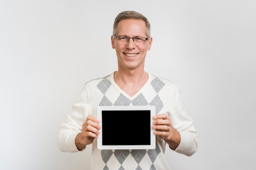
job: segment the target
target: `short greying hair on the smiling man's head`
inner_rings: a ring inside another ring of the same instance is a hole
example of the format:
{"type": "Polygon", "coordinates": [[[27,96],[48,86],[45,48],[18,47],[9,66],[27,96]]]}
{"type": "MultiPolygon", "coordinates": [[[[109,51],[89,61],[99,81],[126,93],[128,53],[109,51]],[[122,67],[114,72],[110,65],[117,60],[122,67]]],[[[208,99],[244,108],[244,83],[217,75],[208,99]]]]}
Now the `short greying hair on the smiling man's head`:
{"type": "Polygon", "coordinates": [[[117,15],[113,25],[113,35],[117,34],[118,23],[121,20],[125,20],[125,19],[143,20],[146,23],[146,35],[147,37],[150,37],[150,23],[148,22],[148,19],[141,13],[138,13],[135,11],[123,11],[117,15]]]}

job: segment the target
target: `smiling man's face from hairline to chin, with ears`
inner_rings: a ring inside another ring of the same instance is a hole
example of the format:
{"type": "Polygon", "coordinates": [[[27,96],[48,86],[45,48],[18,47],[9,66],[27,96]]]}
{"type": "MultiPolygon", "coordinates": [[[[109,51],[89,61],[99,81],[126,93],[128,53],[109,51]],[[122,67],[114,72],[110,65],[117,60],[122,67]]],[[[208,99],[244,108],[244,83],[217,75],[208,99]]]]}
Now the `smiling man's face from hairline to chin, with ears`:
{"type": "MultiPolygon", "coordinates": [[[[146,24],[143,20],[125,19],[121,20],[117,27],[117,35],[126,37],[146,37],[146,24]]],[[[150,50],[152,38],[136,43],[121,42],[111,37],[112,48],[116,50],[119,70],[144,70],[147,50],[150,50]]]]}

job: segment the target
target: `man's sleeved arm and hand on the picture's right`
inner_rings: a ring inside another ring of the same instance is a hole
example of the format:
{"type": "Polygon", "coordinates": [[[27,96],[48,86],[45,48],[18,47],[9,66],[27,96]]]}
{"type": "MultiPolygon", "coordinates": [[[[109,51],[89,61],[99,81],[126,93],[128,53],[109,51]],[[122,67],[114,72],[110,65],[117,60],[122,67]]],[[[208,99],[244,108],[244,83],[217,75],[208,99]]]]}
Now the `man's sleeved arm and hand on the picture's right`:
{"type": "Polygon", "coordinates": [[[152,128],[155,134],[169,145],[172,150],[187,156],[197,151],[198,137],[193,120],[186,115],[179,89],[175,89],[171,113],[153,117],[152,128]],[[167,115],[168,114],[168,115],[167,115]]]}

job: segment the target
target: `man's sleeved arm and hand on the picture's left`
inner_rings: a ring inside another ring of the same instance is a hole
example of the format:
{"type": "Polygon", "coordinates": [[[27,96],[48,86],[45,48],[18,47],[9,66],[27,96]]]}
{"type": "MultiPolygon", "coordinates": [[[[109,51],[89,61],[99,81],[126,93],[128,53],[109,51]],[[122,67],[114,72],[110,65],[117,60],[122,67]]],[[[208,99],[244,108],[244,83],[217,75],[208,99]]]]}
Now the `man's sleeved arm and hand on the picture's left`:
{"type": "Polygon", "coordinates": [[[88,105],[88,97],[83,87],[79,98],[74,102],[72,113],[68,114],[65,122],[58,130],[57,144],[62,152],[78,152],[91,144],[99,135],[99,120],[91,116],[92,106],[88,105]]]}

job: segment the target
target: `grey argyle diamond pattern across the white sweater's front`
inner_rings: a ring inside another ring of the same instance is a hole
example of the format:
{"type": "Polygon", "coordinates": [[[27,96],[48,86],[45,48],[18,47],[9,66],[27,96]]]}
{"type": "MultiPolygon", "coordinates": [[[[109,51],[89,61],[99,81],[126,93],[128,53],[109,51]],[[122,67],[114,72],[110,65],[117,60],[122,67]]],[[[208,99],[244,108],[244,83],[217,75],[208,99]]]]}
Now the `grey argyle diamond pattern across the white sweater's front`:
{"type": "MultiPolygon", "coordinates": [[[[153,96],[152,96],[153,100],[149,104],[148,104],[148,101],[146,100],[146,98],[144,97],[144,95],[147,95],[147,94],[143,95],[142,93],[139,94],[139,96],[137,96],[132,101],[130,101],[128,98],[126,98],[121,93],[120,94],[116,94],[116,97],[118,95],[119,96],[118,96],[118,98],[117,98],[117,100],[115,102],[112,101],[112,102],[114,102],[114,104],[113,104],[108,99],[108,97],[105,96],[105,95],[108,95],[108,93],[106,94],[106,92],[108,91],[109,87],[111,86],[111,82],[107,79],[107,77],[108,76],[104,77],[102,79],[102,81],[100,81],[97,84],[97,88],[102,92],[102,94],[104,94],[104,96],[103,96],[103,98],[102,98],[102,100],[101,100],[101,102],[99,104],[100,106],[112,106],[112,105],[114,105],[114,106],[129,106],[131,103],[132,103],[133,106],[146,106],[146,105],[150,105],[150,106],[155,106],[156,107],[156,114],[159,113],[159,111],[163,108],[163,103],[162,103],[161,99],[158,96],[158,92],[162,89],[162,87],[164,87],[165,83],[162,82],[159,78],[154,78],[153,81],[151,81],[151,85],[152,85],[153,89],[155,90],[155,92],[157,94],[156,94],[155,98],[153,98],[153,96]]],[[[153,163],[154,163],[155,159],[157,158],[157,155],[159,155],[159,153],[161,153],[161,149],[159,148],[158,144],[156,144],[156,148],[155,149],[150,149],[148,151],[147,150],[131,150],[131,152],[130,152],[130,150],[113,150],[113,151],[112,150],[101,150],[102,160],[103,160],[104,163],[106,163],[106,165],[103,168],[103,170],[109,170],[109,168],[107,166],[107,163],[110,160],[110,157],[111,157],[111,159],[115,158],[116,163],[118,161],[121,164],[119,170],[124,170],[124,165],[122,165],[122,164],[124,163],[124,161],[126,160],[127,157],[129,157],[129,159],[130,159],[131,156],[138,163],[138,166],[137,166],[136,170],[142,170],[142,168],[139,165],[139,163],[142,163],[143,161],[148,162],[149,159],[151,160],[152,165],[151,166],[148,165],[148,168],[150,166],[150,170],[155,170],[155,166],[154,166],[153,163]],[[115,155],[115,157],[114,157],[113,154],[115,155]],[[146,157],[145,157],[145,155],[146,155],[146,157]],[[146,160],[145,158],[148,159],[148,160],[146,160]],[[141,160],[143,160],[143,161],[141,161],[141,160]]],[[[126,161],[128,161],[128,160],[126,160],[126,161]]],[[[126,163],[124,163],[124,164],[126,165],[126,163]]],[[[126,166],[128,166],[128,165],[126,165],[126,166]]],[[[135,168],[135,167],[133,167],[133,168],[135,168]]]]}

